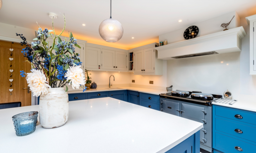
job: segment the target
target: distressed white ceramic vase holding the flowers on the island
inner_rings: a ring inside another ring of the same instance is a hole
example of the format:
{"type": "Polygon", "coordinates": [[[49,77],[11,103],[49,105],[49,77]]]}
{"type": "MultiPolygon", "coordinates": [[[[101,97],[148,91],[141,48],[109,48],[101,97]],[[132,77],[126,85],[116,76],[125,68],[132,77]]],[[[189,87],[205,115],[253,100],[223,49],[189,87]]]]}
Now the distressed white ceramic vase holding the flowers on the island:
{"type": "Polygon", "coordinates": [[[60,127],[68,121],[68,93],[64,88],[48,88],[39,98],[39,121],[46,129],[60,127]]]}

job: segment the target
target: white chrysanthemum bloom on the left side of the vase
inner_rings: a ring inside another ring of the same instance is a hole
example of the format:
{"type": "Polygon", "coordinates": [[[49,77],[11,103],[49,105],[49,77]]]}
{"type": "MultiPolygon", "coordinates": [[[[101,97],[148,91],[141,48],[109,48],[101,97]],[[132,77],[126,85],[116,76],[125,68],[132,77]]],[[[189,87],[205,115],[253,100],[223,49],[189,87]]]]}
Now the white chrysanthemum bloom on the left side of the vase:
{"type": "Polygon", "coordinates": [[[44,73],[40,70],[33,69],[31,73],[27,73],[27,83],[30,87],[30,91],[33,92],[33,96],[40,96],[42,94],[47,94],[47,87],[50,88],[47,84],[46,77],[44,73]]]}

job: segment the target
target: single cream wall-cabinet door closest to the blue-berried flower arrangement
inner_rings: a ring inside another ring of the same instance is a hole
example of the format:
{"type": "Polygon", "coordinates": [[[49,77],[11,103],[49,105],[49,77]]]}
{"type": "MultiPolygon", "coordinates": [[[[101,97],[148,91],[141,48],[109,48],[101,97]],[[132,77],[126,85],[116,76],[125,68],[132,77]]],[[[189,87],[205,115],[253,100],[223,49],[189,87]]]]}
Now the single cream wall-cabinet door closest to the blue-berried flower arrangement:
{"type": "Polygon", "coordinates": [[[99,69],[100,65],[100,48],[85,46],[85,68],[99,69]]]}

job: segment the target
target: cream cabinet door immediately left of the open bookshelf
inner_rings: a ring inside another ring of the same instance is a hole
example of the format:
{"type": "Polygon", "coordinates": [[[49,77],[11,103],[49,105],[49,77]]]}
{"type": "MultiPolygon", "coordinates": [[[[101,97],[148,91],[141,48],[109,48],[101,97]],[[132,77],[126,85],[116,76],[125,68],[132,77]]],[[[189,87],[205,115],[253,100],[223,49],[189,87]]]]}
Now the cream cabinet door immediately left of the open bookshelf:
{"type": "Polygon", "coordinates": [[[127,70],[127,53],[115,51],[115,69],[127,70]]]}

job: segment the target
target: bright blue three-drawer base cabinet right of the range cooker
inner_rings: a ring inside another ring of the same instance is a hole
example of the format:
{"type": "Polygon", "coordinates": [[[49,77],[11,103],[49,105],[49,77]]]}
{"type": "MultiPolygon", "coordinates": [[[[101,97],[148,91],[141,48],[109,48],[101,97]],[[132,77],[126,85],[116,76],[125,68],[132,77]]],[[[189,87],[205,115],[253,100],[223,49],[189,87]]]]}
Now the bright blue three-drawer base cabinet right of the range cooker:
{"type": "Polygon", "coordinates": [[[256,112],[213,105],[214,153],[256,152],[256,112]]]}

